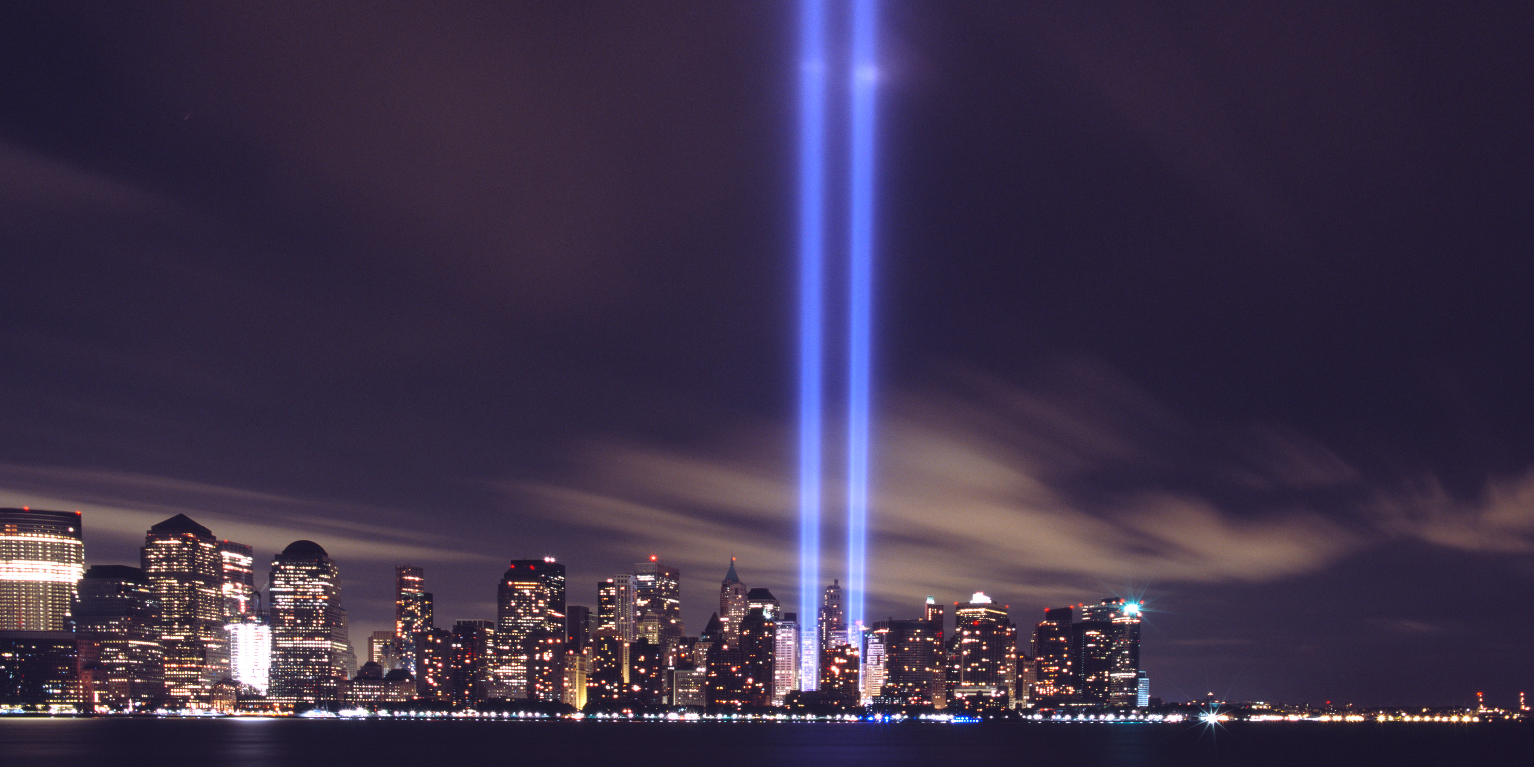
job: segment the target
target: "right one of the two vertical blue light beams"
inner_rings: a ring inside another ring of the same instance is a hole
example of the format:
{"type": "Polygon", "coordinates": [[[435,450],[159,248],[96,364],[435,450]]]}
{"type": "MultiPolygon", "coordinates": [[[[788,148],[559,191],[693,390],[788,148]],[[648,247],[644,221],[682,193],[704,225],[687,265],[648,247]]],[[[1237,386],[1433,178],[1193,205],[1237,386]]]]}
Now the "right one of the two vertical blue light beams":
{"type": "Polygon", "coordinates": [[[864,626],[868,551],[868,400],[873,325],[874,0],[853,2],[847,341],[847,627],[864,626]]]}

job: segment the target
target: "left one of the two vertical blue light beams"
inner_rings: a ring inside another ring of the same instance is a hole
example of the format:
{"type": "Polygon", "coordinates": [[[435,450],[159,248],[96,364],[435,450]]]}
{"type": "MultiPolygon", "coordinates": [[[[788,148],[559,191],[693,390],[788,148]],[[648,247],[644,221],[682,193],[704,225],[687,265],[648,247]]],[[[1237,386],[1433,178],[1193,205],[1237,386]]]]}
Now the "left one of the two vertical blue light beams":
{"type": "MultiPolygon", "coordinates": [[[[816,646],[821,583],[821,408],[825,247],[825,0],[799,2],[799,626],[816,646]]],[[[805,690],[818,653],[801,652],[805,690]]]]}

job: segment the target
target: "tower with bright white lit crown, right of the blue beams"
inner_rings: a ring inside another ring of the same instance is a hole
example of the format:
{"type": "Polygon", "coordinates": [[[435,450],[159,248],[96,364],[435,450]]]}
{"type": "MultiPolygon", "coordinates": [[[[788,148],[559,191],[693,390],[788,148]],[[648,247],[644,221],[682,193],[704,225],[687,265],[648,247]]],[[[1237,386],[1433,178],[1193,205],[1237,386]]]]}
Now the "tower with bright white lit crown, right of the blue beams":
{"type": "Polygon", "coordinates": [[[957,675],[948,680],[948,707],[1009,709],[1017,680],[1017,627],[1005,604],[983,592],[954,609],[957,675]]]}

